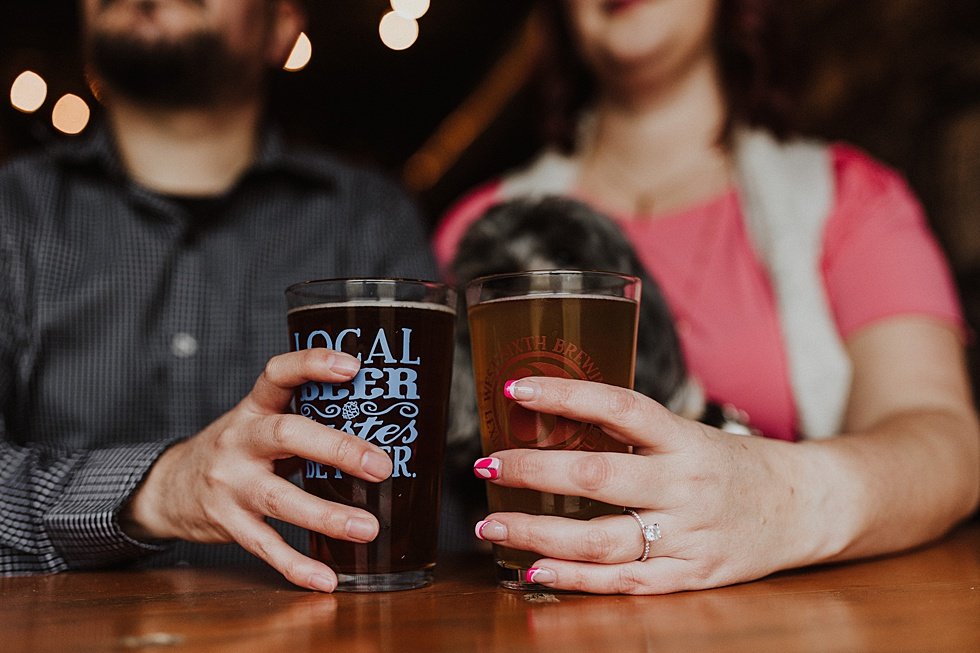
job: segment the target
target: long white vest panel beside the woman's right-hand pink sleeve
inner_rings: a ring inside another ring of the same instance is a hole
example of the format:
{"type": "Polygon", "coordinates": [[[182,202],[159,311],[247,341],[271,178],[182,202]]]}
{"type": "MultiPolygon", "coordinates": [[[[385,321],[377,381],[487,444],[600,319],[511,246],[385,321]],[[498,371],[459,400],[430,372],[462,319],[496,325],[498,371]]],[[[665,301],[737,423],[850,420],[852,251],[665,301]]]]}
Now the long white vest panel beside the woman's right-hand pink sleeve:
{"type": "Polygon", "coordinates": [[[741,130],[735,164],[747,228],[776,295],[800,431],[834,436],[847,407],[851,364],[820,270],[834,195],[828,148],[741,130]]]}

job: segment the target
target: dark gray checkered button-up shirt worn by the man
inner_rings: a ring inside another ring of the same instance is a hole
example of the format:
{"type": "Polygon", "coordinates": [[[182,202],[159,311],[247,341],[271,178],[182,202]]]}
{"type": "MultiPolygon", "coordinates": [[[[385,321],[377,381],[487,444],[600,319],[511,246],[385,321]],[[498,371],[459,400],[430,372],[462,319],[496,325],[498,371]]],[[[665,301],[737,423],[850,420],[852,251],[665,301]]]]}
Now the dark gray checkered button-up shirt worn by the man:
{"type": "Polygon", "coordinates": [[[0,573],[247,559],[117,514],[286,351],[288,285],[435,275],[394,184],[275,135],[206,208],[130,181],[106,131],[0,169],[0,573]]]}

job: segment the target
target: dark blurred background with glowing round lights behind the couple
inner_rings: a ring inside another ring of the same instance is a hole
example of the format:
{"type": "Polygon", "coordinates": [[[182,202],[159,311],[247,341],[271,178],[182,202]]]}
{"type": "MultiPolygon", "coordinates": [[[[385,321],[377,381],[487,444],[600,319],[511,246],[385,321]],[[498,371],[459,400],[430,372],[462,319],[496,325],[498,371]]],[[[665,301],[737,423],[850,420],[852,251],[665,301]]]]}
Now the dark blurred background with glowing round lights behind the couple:
{"type": "MultiPolygon", "coordinates": [[[[460,194],[538,148],[526,85],[532,4],[309,0],[309,58],[297,52],[300,69],[276,76],[272,113],[292,137],[400,180],[431,227],[460,194]],[[393,5],[400,13],[391,18],[393,5]]],[[[84,134],[97,119],[77,21],[74,1],[5,3],[0,81],[10,97],[0,107],[0,162],[77,138],[65,131],[81,125],[84,134]],[[25,71],[44,80],[43,97],[25,71]]],[[[980,2],[796,0],[789,29],[804,89],[802,130],[848,140],[905,174],[949,255],[975,331],[980,2]]]]}

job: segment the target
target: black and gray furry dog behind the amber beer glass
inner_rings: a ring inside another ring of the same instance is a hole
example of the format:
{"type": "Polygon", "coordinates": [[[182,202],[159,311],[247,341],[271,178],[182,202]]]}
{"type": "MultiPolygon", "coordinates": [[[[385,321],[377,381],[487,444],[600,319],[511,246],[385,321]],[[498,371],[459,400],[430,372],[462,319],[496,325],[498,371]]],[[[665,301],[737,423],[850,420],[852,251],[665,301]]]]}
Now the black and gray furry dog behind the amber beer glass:
{"type": "MultiPolygon", "coordinates": [[[[685,386],[687,370],[667,303],[619,227],[587,204],[555,196],[492,206],[464,234],[451,265],[460,287],[489,274],[555,269],[604,270],[642,280],[634,388],[669,405],[685,386]]],[[[452,460],[469,464],[480,453],[465,315],[457,329],[450,413],[452,460]]]]}

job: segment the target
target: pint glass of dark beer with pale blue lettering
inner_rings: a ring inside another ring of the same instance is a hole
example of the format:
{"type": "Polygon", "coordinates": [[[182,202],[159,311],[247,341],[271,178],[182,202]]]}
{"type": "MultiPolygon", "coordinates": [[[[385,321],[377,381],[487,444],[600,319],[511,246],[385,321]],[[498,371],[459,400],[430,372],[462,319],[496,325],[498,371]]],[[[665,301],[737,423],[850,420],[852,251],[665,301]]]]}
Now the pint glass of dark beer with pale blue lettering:
{"type": "Polygon", "coordinates": [[[391,456],[391,477],[362,481],[305,461],[306,491],[363,508],[381,529],[367,544],[311,532],[311,552],[340,591],[424,587],[432,582],[439,481],[452,376],[456,293],[427,281],[328,279],[286,290],[293,351],[326,347],[361,361],[350,383],[296,389],[296,411],[372,442],[391,456]]]}

